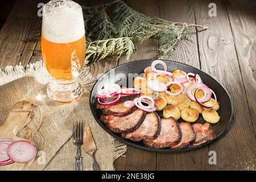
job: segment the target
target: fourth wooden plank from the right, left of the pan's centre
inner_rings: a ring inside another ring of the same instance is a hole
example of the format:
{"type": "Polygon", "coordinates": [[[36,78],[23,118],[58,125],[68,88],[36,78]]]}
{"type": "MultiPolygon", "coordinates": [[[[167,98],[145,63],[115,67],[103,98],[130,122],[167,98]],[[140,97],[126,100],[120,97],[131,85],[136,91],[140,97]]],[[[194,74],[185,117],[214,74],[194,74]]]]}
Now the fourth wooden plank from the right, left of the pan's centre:
{"type": "MultiPolygon", "coordinates": [[[[128,6],[149,16],[159,16],[159,2],[156,0],[136,1],[128,0],[128,6]]],[[[131,59],[127,60],[122,57],[119,60],[119,65],[128,61],[140,59],[152,59],[158,53],[157,43],[153,40],[147,40],[141,44],[137,51],[132,55],[131,59]]],[[[138,150],[133,147],[128,147],[125,157],[120,157],[115,161],[117,170],[155,170],[156,169],[156,153],[138,150]]]]}

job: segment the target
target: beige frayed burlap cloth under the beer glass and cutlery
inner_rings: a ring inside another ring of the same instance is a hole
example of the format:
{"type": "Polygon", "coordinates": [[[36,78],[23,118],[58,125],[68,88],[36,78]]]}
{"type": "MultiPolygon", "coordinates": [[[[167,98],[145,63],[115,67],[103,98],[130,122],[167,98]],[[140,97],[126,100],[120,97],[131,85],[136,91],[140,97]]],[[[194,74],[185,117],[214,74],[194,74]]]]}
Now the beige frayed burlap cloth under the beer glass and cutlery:
{"type": "MultiPolygon", "coordinates": [[[[80,82],[84,94],[71,104],[59,104],[47,98],[46,84],[50,80],[42,61],[22,66],[7,67],[0,71],[0,125],[11,107],[19,101],[29,100],[36,105],[35,117],[18,133],[18,137],[30,138],[39,154],[46,154],[45,161],[35,159],[29,170],[75,170],[76,147],[72,144],[72,126],[83,121],[90,126],[98,148],[96,160],[102,170],[114,170],[113,162],[126,151],[126,146],[117,142],[97,124],[91,114],[88,90],[94,79],[84,68],[80,82]],[[44,163],[45,162],[45,163],[44,163]]],[[[83,151],[83,169],[92,170],[92,159],[83,151]]]]}

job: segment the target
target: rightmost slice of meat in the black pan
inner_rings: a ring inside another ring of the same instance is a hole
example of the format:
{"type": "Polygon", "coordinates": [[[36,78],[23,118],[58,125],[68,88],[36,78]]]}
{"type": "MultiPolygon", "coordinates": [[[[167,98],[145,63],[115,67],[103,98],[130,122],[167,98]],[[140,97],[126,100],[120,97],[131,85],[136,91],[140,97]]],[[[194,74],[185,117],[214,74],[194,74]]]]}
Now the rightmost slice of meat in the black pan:
{"type": "Polygon", "coordinates": [[[194,123],[192,127],[196,134],[196,139],[192,146],[198,146],[217,137],[210,123],[204,123],[204,125],[201,123],[194,123]]]}

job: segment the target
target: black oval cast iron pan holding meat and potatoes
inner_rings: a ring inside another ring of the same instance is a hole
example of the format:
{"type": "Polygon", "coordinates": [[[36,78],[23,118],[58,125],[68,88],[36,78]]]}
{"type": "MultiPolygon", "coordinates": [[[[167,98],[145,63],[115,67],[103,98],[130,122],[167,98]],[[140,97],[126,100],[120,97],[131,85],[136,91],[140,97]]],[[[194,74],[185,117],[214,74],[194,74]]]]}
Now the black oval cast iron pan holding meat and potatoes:
{"type": "MultiPolygon", "coordinates": [[[[147,150],[147,151],[152,151],[152,152],[164,152],[164,153],[172,153],[172,152],[185,152],[185,151],[191,151],[191,150],[196,150],[197,148],[201,148],[203,146],[206,146],[210,142],[206,142],[204,144],[201,144],[200,146],[192,146],[189,148],[182,148],[182,149],[177,149],[177,150],[171,150],[169,148],[164,148],[164,149],[156,149],[156,148],[149,148],[143,144],[143,142],[133,142],[128,139],[123,139],[120,137],[120,134],[115,134],[109,131],[107,127],[105,127],[104,123],[100,122],[100,114],[101,110],[96,109],[96,93],[98,92],[99,89],[103,88],[104,84],[107,82],[112,82],[119,84],[120,86],[128,86],[129,88],[132,87],[132,78],[140,75],[140,73],[143,73],[144,69],[146,67],[149,67],[151,63],[154,60],[138,60],[138,61],[132,61],[129,63],[125,63],[122,65],[119,65],[116,68],[111,69],[107,73],[105,73],[103,76],[99,78],[99,80],[95,83],[94,87],[92,88],[91,91],[91,96],[90,96],[90,107],[92,114],[94,115],[94,118],[96,119],[96,122],[99,123],[99,125],[107,131],[112,137],[116,138],[120,142],[123,142],[125,144],[128,144],[132,147],[139,148],[141,150],[147,150]],[[126,83],[126,85],[125,85],[126,83]]],[[[231,100],[230,96],[227,93],[226,89],[218,82],[215,80],[212,76],[208,75],[207,73],[201,71],[200,69],[191,67],[190,65],[182,64],[182,63],[177,63],[174,61],[167,61],[164,60],[166,65],[168,66],[168,71],[172,72],[175,68],[180,69],[182,71],[185,71],[186,73],[197,73],[201,76],[202,81],[209,86],[209,88],[213,89],[213,91],[217,95],[217,100],[220,102],[220,109],[218,110],[218,114],[220,115],[221,119],[220,122],[216,124],[212,124],[214,131],[217,134],[218,139],[224,132],[227,130],[227,127],[229,126],[229,123],[232,118],[233,114],[233,107],[231,105],[231,100]]],[[[161,65],[159,65],[159,68],[161,65]]],[[[158,114],[160,117],[162,117],[162,111],[160,111],[158,114]]],[[[204,122],[202,118],[198,119],[197,122],[204,122]]]]}

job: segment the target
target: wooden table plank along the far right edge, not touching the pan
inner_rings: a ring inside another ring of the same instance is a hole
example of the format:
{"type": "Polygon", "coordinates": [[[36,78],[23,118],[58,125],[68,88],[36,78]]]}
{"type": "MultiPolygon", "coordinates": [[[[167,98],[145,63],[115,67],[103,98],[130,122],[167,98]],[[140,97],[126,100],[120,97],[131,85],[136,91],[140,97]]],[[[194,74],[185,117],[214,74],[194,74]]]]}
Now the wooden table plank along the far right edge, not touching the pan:
{"type": "Polygon", "coordinates": [[[229,1],[227,10],[250,115],[256,131],[256,3],[229,1]],[[239,10],[238,10],[239,9],[239,10]]]}

